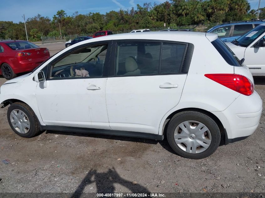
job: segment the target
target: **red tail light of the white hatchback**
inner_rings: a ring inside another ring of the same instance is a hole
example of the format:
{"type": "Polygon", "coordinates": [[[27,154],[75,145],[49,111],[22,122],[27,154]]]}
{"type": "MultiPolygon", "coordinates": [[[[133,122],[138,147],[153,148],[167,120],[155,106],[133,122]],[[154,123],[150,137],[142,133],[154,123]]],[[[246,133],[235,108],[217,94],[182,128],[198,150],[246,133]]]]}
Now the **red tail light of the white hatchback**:
{"type": "Polygon", "coordinates": [[[204,76],[240,94],[249,96],[254,92],[251,80],[239,74],[205,74],[204,76]]]}

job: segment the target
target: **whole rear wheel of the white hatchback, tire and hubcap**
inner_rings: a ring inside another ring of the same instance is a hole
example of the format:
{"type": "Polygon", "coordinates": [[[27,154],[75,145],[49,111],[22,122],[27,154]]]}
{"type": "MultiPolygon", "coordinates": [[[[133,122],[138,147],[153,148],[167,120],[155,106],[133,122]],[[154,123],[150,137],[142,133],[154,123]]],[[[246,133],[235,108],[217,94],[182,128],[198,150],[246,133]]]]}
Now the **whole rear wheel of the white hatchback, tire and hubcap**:
{"type": "Polygon", "coordinates": [[[219,146],[220,129],[206,114],[180,112],[168,124],[167,141],[178,155],[202,159],[214,153],[219,146]]]}

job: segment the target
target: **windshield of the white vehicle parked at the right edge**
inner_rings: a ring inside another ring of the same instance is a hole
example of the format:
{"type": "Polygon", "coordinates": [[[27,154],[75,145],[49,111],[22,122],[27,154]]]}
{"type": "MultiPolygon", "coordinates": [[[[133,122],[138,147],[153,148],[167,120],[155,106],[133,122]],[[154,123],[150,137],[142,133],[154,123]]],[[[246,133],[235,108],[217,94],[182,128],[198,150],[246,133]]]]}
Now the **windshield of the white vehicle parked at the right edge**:
{"type": "Polygon", "coordinates": [[[236,40],[236,43],[242,47],[247,47],[252,41],[265,32],[265,25],[258,25],[256,28],[245,33],[243,36],[236,40]]]}

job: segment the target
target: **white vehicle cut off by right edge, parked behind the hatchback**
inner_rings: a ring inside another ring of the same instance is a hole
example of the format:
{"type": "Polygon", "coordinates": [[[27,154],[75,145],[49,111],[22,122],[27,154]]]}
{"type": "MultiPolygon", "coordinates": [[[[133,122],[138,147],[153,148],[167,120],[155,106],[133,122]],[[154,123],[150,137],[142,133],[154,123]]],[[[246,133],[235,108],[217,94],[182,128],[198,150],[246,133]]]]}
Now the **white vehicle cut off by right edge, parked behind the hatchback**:
{"type": "Polygon", "coordinates": [[[253,76],[265,75],[265,23],[226,44],[238,58],[245,59],[253,76]]]}

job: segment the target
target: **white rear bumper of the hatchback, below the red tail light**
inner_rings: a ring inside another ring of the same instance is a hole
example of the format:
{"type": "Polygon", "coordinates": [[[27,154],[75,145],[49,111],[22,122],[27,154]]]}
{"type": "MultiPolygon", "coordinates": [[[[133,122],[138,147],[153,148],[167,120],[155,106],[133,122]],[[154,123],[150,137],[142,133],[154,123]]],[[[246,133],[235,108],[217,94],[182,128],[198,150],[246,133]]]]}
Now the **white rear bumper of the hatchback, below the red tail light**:
{"type": "Polygon", "coordinates": [[[223,124],[225,142],[233,143],[252,135],[258,127],[262,113],[262,99],[257,92],[251,96],[240,95],[224,111],[212,112],[223,124]]]}

